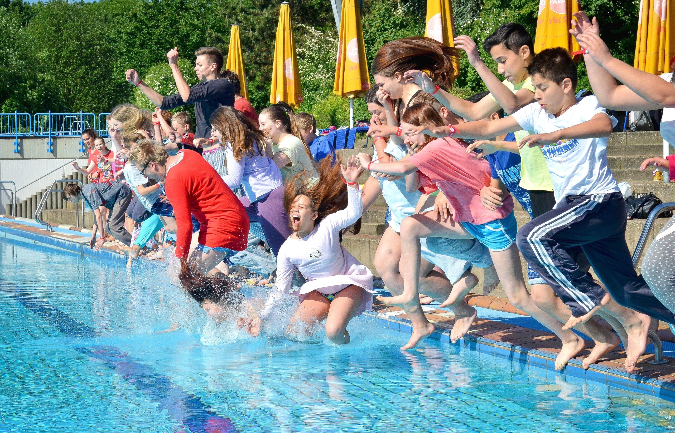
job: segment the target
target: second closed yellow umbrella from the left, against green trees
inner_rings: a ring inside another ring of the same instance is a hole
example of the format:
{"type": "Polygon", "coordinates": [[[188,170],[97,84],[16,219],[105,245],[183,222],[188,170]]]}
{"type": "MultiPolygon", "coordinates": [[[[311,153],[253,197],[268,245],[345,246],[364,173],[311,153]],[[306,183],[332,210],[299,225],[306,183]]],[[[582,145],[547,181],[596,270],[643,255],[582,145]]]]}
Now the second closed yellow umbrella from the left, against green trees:
{"type": "Polygon", "coordinates": [[[295,51],[295,38],[291,25],[291,9],[287,1],[281,3],[281,11],[279,12],[269,103],[275,104],[280,100],[294,109],[300,107],[300,103],[302,103],[298,55],[295,51]]]}

